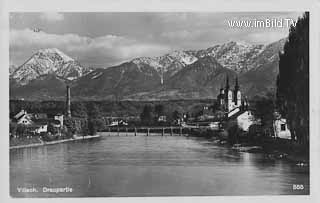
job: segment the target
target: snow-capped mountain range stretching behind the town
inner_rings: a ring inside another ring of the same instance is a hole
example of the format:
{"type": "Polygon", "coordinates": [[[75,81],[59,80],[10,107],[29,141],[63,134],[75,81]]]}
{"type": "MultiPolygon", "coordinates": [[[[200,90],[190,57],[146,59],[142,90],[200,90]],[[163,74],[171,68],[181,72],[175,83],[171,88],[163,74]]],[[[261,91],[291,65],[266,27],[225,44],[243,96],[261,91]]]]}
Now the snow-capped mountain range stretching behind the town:
{"type": "Polygon", "coordinates": [[[274,91],[279,52],[286,39],[268,45],[228,42],[202,50],[139,57],[90,69],[56,48],[42,49],[19,67],[10,66],[10,98],[158,100],[216,98],[226,75],[239,78],[244,95],[274,91]]]}

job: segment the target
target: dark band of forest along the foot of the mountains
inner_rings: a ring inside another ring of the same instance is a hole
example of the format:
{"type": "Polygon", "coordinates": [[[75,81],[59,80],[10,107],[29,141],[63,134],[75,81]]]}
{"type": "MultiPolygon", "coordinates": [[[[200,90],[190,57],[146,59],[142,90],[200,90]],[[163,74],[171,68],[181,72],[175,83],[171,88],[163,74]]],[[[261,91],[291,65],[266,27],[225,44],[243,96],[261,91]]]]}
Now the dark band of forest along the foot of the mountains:
{"type": "MultiPolygon", "coordinates": [[[[87,118],[99,114],[102,117],[140,117],[145,106],[160,108],[156,110],[165,111],[167,116],[171,116],[174,111],[189,112],[195,117],[200,114],[204,105],[212,105],[212,99],[207,100],[170,100],[170,101],[72,101],[71,114],[73,117],[87,118]],[[160,107],[162,106],[162,107],[160,107]],[[163,109],[161,109],[163,108],[163,109]],[[169,113],[170,112],[170,113],[169,113]],[[168,115],[169,114],[169,115],[168,115]]],[[[46,113],[48,117],[53,117],[58,113],[64,114],[66,111],[65,101],[24,101],[10,100],[10,118],[22,109],[28,113],[46,113]]],[[[152,113],[153,109],[152,109],[152,113]]]]}

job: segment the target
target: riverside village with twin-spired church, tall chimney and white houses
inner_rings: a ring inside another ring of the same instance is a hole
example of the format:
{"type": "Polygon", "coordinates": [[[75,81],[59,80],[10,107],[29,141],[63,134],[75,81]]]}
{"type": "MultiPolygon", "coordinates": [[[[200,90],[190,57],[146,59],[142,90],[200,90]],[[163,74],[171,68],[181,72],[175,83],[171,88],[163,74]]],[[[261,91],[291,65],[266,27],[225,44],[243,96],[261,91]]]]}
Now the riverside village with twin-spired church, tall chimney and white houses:
{"type": "MultiPolygon", "coordinates": [[[[227,75],[225,84],[221,85],[222,87],[214,104],[204,105],[197,116],[191,117],[188,113],[182,113],[175,115],[173,119],[171,118],[171,121],[168,121],[169,119],[167,116],[160,111],[160,113],[154,115],[155,118],[151,118],[150,115],[143,115],[148,114],[148,112],[142,112],[140,116],[137,115],[135,118],[104,117],[103,119],[99,118],[100,128],[93,126],[93,128],[96,129],[94,129],[91,134],[94,134],[99,130],[104,131],[107,128],[110,130],[110,128],[115,127],[141,127],[145,125],[145,123],[143,123],[144,119],[155,119],[156,122],[151,124],[153,126],[181,126],[182,128],[201,128],[212,131],[226,130],[226,124],[234,122],[242,131],[243,135],[248,134],[251,126],[261,125],[261,119],[255,117],[248,98],[242,95],[238,78],[235,78],[233,88],[230,87],[229,77],[227,75]]],[[[143,111],[147,111],[146,108],[143,111]]],[[[175,112],[173,112],[173,114],[174,113],[175,112]]],[[[39,137],[39,135],[64,137],[66,134],[69,134],[70,137],[70,131],[71,134],[80,132],[70,129],[72,128],[70,127],[70,122],[66,123],[66,121],[69,121],[70,119],[75,120],[75,126],[82,126],[78,128],[84,128],[82,124],[77,124],[77,118],[72,117],[70,87],[67,86],[65,112],[48,115],[45,112],[30,113],[25,109],[21,109],[17,114],[10,118],[10,137],[30,139],[32,137],[39,137]]],[[[82,121],[83,119],[79,120],[80,123],[82,121]]],[[[88,121],[86,121],[84,125],[86,125],[86,130],[81,129],[81,131],[89,133],[88,121]]],[[[273,113],[272,131],[273,132],[268,134],[269,136],[281,139],[291,139],[291,133],[286,123],[286,119],[282,118],[277,112],[273,113]]]]}

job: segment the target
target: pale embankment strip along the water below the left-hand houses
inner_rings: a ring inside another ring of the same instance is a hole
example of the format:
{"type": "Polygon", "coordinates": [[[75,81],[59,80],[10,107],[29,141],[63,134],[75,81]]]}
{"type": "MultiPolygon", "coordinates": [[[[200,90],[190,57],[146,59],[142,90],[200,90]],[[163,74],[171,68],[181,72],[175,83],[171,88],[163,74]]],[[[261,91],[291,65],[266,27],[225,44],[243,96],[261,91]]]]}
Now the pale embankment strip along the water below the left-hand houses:
{"type": "Polygon", "coordinates": [[[62,139],[62,140],[55,140],[55,141],[42,141],[41,139],[37,138],[36,140],[34,138],[30,138],[35,143],[30,143],[30,144],[20,144],[20,145],[15,145],[15,146],[10,146],[9,149],[20,149],[20,148],[29,148],[29,147],[39,147],[39,146],[45,146],[45,145],[53,145],[53,144],[59,144],[59,143],[64,143],[64,142],[71,142],[71,141],[77,141],[77,140],[88,140],[88,139],[93,139],[93,138],[99,138],[100,135],[87,135],[87,136],[73,136],[73,138],[68,138],[68,139],[62,139]]]}

